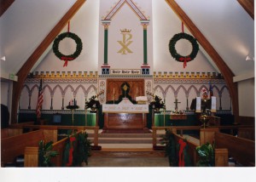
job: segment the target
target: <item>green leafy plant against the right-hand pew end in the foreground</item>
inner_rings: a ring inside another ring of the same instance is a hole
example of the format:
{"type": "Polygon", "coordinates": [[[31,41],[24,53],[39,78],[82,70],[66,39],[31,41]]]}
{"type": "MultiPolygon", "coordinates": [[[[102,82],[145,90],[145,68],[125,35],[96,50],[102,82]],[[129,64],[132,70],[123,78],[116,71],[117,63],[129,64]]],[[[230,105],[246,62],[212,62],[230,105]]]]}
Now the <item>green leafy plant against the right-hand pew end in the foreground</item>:
{"type": "Polygon", "coordinates": [[[214,147],[207,142],[201,146],[196,147],[199,155],[199,161],[196,163],[198,167],[213,167],[214,164],[214,147]]]}

